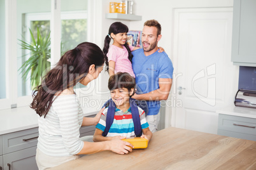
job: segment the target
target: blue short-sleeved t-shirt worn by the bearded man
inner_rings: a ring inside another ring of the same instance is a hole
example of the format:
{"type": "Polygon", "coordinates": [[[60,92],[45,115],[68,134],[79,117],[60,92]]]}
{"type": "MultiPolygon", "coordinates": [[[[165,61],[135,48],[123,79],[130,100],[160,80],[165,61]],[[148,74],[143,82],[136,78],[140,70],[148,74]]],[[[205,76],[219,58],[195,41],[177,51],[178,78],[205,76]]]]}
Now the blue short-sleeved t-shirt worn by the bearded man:
{"type": "MultiPolygon", "coordinates": [[[[159,78],[173,79],[173,63],[165,52],[155,51],[145,56],[143,48],[132,51],[132,69],[136,84],[142,93],[159,89],[159,78]]],[[[160,110],[160,101],[147,101],[148,115],[156,115],[160,110]]]]}

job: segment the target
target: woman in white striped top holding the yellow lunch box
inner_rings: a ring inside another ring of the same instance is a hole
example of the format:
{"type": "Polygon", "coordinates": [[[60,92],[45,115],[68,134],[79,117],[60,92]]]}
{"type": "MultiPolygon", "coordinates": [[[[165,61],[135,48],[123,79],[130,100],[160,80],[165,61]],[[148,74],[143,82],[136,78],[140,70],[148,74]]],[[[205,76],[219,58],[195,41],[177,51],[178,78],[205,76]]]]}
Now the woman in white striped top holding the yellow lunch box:
{"type": "Polygon", "coordinates": [[[34,91],[31,108],[39,115],[36,150],[39,169],[78,159],[80,154],[103,150],[127,154],[132,151],[132,145],[121,140],[92,143],[79,138],[80,127],[96,125],[103,110],[96,117],[83,117],[73,87],[78,82],[86,86],[96,79],[103,64],[103,51],[96,44],[83,42],[67,51],[34,91]]]}

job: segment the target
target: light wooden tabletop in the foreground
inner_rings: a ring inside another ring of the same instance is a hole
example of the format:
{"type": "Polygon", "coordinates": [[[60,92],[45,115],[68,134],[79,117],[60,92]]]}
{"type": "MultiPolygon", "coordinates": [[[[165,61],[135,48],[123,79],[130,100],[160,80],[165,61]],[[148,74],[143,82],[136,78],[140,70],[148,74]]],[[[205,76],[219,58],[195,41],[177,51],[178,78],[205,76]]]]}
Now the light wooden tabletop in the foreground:
{"type": "Polygon", "coordinates": [[[256,141],[167,128],[153,133],[148,148],[85,155],[52,169],[256,169],[256,141]]]}

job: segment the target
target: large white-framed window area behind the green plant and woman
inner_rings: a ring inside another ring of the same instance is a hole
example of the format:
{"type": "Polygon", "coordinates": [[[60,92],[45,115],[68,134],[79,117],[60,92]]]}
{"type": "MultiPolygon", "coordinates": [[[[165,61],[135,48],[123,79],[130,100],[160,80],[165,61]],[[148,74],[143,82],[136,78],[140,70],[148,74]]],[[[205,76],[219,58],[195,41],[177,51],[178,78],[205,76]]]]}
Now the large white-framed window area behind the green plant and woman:
{"type": "MultiPolygon", "coordinates": [[[[55,2],[55,0],[0,0],[0,20],[4,23],[0,25],[0,81],[3,82],[0,84],[0,109],[21,107],[31,103],[30,73],[25,79],[19,70],[28,60],[31,51],[22,49],[20,44],[21,41],[31,42],[29,29],[35,39],[37,39],[37,28],[41,35],[50,34],[50,25],[54,24],[51,22],[51,10],[55,2]]],[[[87,3],[87,0],[60,0],[62,53],[75,48],[80,42],[89,41],[87,3]]],[[[59,60],[60,56],[53,58],[59,60]]]]}

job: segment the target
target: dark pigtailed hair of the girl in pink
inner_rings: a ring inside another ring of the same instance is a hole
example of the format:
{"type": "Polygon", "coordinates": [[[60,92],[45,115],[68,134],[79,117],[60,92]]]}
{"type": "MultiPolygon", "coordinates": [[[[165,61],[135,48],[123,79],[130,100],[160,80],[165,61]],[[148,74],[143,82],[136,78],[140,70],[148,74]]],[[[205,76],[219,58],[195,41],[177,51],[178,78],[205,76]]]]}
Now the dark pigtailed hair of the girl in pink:
{"type": "MultiPolygon", "coordinates": [[[[106,61],[106,71],[108,71],[108,49],[110,48],[110,41],[111,41],[111,33],[113,34],[118,34],[118,33],[123,33],[123,32],[129,32],[129,29],[126,25],[124,25],[124,23],[122,22],[114,22],[110,25],[110,29],[108,30],[108,35],[105,37],[104,40],[104,48],[103,48],[103,53],[105,56],[105,61],[106,61]]],[[[124,44],[125,48],[128,51],[128,59],[132,62],[132,53],[131,53],[131,49],[129,48],[129,44],[127,42],[125,42],[124,44]]]]}

